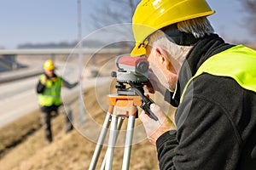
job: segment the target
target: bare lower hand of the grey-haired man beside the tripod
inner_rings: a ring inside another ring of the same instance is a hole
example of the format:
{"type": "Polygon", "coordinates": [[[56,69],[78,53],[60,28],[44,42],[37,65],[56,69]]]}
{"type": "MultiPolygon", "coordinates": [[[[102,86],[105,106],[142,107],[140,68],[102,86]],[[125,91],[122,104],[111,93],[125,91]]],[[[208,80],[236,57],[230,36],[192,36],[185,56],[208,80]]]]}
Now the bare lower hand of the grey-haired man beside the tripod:
{"type": "Polygon", "coordinates": [[[158,117],[158,121],[149,118],[145,111],[142,111],[139,118],[143,122],[148,140],[155,144],[156,140],[169,130],[176,129],[174,123],[161,111],[160,106],[151,104],[150,110],[158,117]]]}

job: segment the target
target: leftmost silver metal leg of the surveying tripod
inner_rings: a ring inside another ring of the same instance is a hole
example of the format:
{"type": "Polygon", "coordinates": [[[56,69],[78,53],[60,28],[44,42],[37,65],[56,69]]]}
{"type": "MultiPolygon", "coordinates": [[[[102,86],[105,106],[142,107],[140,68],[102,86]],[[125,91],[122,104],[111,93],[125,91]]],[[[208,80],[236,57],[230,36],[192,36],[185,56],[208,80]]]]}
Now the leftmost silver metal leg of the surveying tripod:
{"type": "Polygon", "coordinates": [[[94,170],[96,168],[96,163],[97,163],[97,161],[99,159],[99,156],[100,156],[100,153],[102,151],[102,144],[104,143],[104,140],[106,138],[106,134],[108,133],[108,127],[109,127],[109,124],[110,124],[110,121],[109,121],[110,119],[111,119],[111,114],[108,112],[107,115],[106,115],[105,121],[103,123],[102,131],[100,133],[98,142],[96,144],[96,149],[95,149],[94,154],[92,156],[92,159],[90,161],[90,167],[89,167],[90,170],[94,170]]]}

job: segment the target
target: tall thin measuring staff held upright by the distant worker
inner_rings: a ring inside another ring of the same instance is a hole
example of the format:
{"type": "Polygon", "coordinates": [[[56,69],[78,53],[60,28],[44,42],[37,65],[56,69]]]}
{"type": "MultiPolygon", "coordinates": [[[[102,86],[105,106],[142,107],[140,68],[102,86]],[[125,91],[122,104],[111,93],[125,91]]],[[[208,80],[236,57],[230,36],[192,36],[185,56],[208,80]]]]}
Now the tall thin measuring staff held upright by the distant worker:
{"type": "Polygon", "coordinates": [[[81,0],[78,0],[78,48],[79,48],[79,115],[80,125],[84,125],[84,93],[83,93],[83,37],[82,37],[82,10],[81,0]]]}

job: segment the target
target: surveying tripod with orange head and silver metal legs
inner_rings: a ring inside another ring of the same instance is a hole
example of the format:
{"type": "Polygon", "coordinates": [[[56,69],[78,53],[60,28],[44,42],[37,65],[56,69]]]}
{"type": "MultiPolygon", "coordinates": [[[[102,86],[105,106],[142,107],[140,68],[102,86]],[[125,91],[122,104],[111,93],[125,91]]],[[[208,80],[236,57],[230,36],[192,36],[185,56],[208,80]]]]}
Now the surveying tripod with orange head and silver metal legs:
{"type": "Polygon", "coordinates": [[[122,169],[128,170],[129,163],[131,158],[131,144],[134,132],[134,123],[137,116],[137,106],[142,105],[140,96],[137,95],[118,95],[110,94],[108,95],[108,113],[105,117],[105,121],[102,126],[102,131],[99,135],[96,149],[90,161],[90,170],[96,168],[96,163],[102,151],[102,145],[108,133],[108,127],[111,122],[109,139],[108,139],[108,149],[106,151],[104,160],[102,161],[101,169],[112,169],[113,163],[113,151],[114,145],[116,143],[117,137],[119,135],[119,130],[122,126],[124,117],[128,117],[128,124],[126,128],[126,137],[125,137],[125,150],[123,156],[122,169]]]}

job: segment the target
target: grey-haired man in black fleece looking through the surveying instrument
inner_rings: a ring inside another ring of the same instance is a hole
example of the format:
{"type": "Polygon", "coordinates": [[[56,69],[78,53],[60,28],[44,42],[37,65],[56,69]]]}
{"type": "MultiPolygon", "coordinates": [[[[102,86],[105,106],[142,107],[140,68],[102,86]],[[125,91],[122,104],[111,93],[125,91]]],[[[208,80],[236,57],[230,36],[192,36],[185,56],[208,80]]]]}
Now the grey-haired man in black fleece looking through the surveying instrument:
{"type": "Polygon", "coordinates": [[[159,121],[139,116],[160,169],[256,169],[256,52],[218,37],[211,14],[206,0],[143,0],[133,15],[131,55],[177,107],[175,121],[155,104],[159,121]]]}

